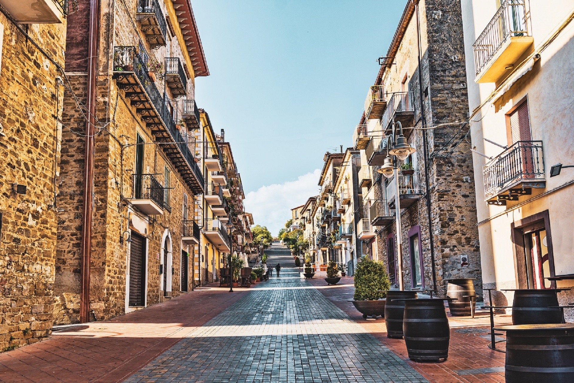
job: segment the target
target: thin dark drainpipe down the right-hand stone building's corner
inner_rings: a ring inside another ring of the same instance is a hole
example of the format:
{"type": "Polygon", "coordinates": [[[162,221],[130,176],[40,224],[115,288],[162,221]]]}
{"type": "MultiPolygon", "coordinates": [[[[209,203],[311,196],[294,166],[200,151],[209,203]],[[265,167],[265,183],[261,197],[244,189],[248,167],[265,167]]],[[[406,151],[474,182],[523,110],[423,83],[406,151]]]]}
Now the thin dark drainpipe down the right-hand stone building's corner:
{"type": "MultiPolygon", "coordinates": [[[[418,0],[414,1],[415,12],[417,13],[417,48],[418,48],[418,91],[421,100],[421,124],[426,126],[426,118],[424,113],[424,102],[422,100],[424,92],[422,91],[422,64],[421,64],[421,29],[418,18],[418,0]]],[[[424,152],[424,167],[425,167],[425,189],[426,189],[426,215],[429,221],[429,245],[430,245],[430,267],[432,273],[432,289],[436,292],[436,266],[435,266],[435,241],[433,239],[432,230],[432,211],[430,208],[430,180],[429,180],[429,166],[428,166],[428,137],[426,136],[426,129],[422,130],[422,150],[424,152]]]]}

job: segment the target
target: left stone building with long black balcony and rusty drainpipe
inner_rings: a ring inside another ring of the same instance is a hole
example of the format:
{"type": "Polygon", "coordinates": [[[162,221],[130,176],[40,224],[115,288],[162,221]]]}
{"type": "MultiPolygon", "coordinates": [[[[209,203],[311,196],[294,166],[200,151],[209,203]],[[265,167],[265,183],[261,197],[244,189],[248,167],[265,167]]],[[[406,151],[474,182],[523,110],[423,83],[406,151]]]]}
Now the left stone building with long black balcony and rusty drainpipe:
{"type": "Polygon", "coordinates": [[[189,291],[199,242],[194,82],[208,70],[191,5],[99,5],[82,2],[68,17],[55,323],[189,291]]]}

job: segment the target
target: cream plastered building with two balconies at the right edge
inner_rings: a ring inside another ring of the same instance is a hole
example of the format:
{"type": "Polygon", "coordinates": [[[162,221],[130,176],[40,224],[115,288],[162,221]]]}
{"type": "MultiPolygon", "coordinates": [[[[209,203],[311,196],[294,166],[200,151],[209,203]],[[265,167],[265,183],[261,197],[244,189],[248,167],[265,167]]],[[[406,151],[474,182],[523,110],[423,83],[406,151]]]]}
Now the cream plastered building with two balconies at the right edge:
{"type": "Polygon", "coordinates": [[[574,171],[552,165],[574,165],[574,4],[462,9],[483,283],[506,306],[514,292],[502,289],[573,286],[574,171]]]}

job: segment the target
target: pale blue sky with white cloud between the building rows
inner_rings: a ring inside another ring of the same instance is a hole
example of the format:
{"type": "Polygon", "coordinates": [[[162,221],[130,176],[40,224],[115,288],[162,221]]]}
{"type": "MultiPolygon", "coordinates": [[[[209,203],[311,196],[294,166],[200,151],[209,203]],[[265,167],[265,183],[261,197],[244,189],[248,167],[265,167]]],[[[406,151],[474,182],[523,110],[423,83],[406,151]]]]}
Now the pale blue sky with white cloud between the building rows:
{"type": "Polygon", "coordinates": [[[211,73],[197,105],[225,129],[255,223],[276,234],[316,194],[324,153],[351,146],[405,4],[192,0],[211,73]]]}

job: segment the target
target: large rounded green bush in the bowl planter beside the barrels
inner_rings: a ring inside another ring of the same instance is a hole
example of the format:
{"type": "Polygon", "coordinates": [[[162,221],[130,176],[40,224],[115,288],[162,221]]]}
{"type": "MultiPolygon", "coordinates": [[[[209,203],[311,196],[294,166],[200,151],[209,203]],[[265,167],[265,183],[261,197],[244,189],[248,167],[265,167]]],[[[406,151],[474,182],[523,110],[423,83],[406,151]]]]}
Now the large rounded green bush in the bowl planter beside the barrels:
{"type": "Polygon", "coordinates": [[[377,300],[387,296],[377,290],[390,288],[389,276],[383,262],[373,261],[363,256],[354,270],[355,300],[377,300]]]}

